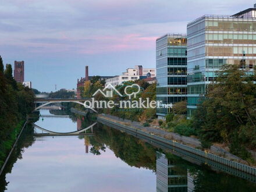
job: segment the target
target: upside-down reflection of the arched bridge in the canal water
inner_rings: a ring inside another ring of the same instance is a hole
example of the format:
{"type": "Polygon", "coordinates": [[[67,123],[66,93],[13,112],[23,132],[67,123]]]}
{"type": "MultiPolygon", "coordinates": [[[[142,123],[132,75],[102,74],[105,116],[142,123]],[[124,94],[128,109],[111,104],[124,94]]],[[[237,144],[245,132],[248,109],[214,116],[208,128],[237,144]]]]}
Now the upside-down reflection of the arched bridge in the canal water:
{"type": "Polygon", "coordinates": [[[50,131],[50,130],[44,129],[38,125],[35,125],[34,123],[33,123],[33,126],[35,127],[35,129],[39,129],[39,130],[42,130],[43,132],[45,132],[45,133],[36,133],[36,130],[35,130],[35,136],[77,136],[77,135],[93,134],[93,126],[96,124],[97,124],[97,122],[93,123],[92,125],[84,128],[84,129],[67,132],[67,133],[59,133],[59,132],[55,132],[55,131],[50,131]],[[86,133],[86,131],[90,130],[90,129],[91,129],[91,133],[86,133]]]}

